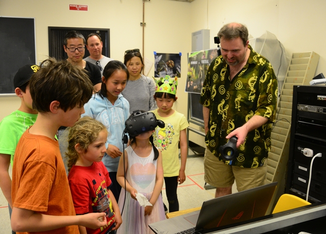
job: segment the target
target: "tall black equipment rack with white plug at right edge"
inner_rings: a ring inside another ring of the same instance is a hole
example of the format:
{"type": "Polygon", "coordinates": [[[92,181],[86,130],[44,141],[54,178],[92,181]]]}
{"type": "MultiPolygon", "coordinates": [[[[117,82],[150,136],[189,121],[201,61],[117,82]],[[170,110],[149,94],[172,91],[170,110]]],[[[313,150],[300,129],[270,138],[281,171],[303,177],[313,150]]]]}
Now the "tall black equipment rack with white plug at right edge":
{"type": "MultiPolygon", "coordinates": [[[[322,75],[317,77],[317,80],[324,79],[322,75]]],[[[310,203],[326,201],[325,93],[324,85],[293,86],[285,193],[302,199],[306,199],[308,193],[310,203]],[[311,150],[312,156],[322,153],[322,157],[312,163],[313,157],[304,155],[304,149],[311,150]]]]}

